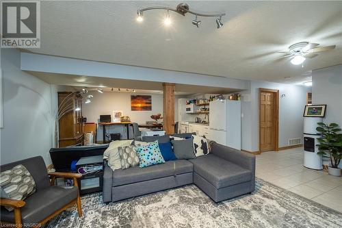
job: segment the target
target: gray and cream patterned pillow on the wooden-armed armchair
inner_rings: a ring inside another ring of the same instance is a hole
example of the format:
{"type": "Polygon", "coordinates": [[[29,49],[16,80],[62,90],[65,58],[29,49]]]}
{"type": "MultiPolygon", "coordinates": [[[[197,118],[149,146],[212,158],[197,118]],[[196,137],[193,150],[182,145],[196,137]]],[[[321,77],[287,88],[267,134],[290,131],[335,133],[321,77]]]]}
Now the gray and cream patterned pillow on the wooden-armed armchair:
{"type": "MultiPolygon", "coordinates": [[[[19,164],[0,174],[1,198],[24,200],[36,192],[36,182],[25,166],[19,164]]],[[[13,207],[5,207],[12,211],[13,207]]]]}

